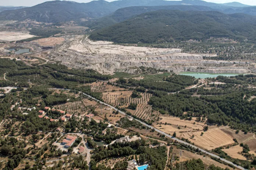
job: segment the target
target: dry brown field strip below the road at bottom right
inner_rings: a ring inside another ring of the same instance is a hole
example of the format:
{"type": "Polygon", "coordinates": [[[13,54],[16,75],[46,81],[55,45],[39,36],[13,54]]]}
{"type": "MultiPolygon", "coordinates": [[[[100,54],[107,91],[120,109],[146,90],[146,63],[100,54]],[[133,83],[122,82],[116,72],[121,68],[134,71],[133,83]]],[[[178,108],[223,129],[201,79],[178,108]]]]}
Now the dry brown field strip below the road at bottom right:
{"type": "MultiPolygon", "coordinates": [[[[179,152],[180,152],[180,149],[173,148],[173,153],[176,154],[177,156],[179,156],[179,152]]],[[[201,159],[206,165],[214,164],[215,166],[219,166],[223,169],[225,169],[226,167],[230,169],[229,166],[219,163],[209,157],[206,157],[206,156],[204,157],[203,155],[197,155],[197,154],[193,154],[192,152],[182,150],[181,161],[186,161],[190,159],[201,159]]]]}

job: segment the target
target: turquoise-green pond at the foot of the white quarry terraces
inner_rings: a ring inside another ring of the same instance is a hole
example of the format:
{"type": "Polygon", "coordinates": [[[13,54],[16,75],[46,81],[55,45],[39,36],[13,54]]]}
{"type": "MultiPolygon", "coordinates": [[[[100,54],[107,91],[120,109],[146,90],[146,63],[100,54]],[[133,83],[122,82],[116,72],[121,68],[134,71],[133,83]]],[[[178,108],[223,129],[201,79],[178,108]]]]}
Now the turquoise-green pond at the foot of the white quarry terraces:
{"type": "Polygon", "coordinates": [[[211,73],[195,73],[195,72],[180,72],[178,74],[181,74],[181,75],[190,75],[192,77],[195,77],[195,78],[214,78],[214,77],[217,77],[219,75],[223,75],[223,76],[227,76],[227,77],[230,77],[230,76],[235,76],[235,75],[239,75],[239,74],[235,74],[235,73],[217,73],[217,74],[211,74],[211,73]]]}

